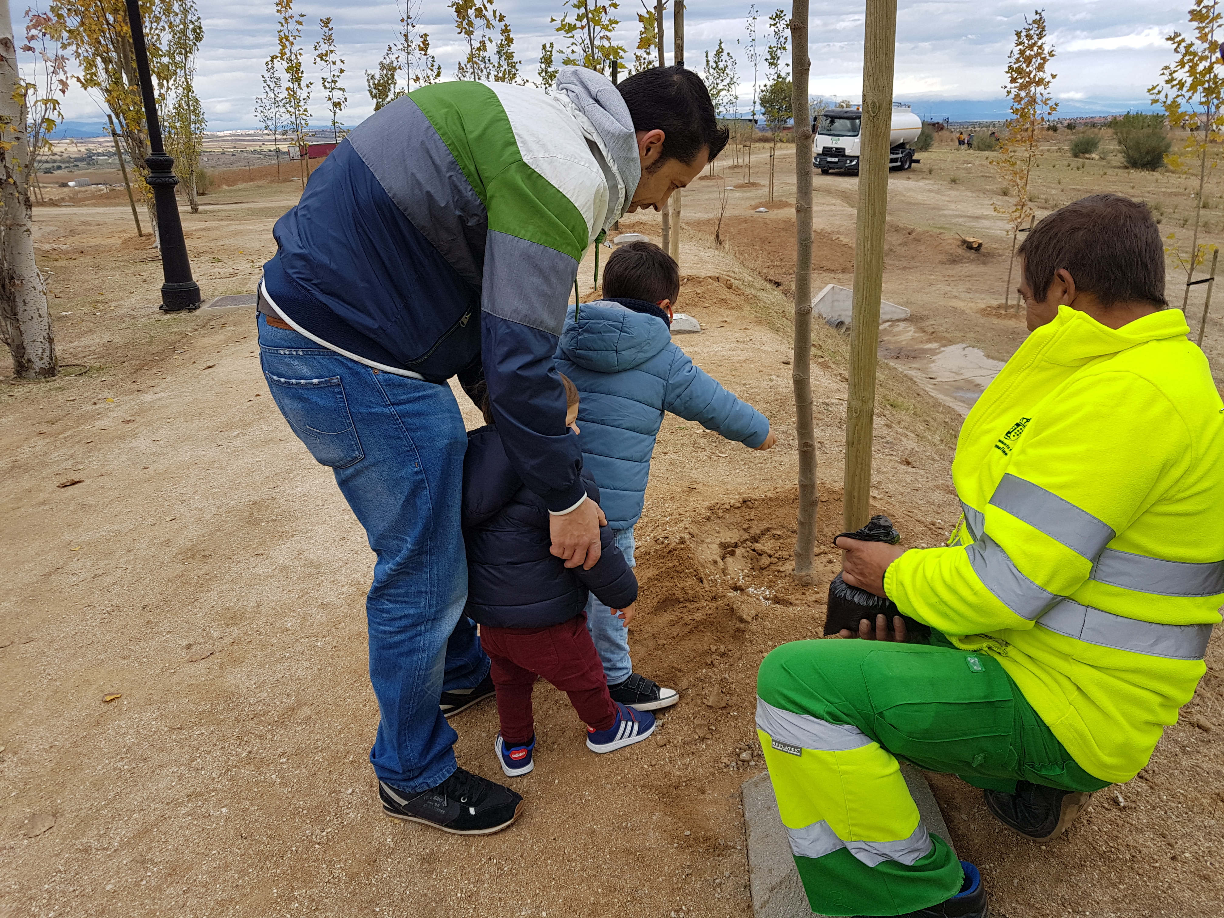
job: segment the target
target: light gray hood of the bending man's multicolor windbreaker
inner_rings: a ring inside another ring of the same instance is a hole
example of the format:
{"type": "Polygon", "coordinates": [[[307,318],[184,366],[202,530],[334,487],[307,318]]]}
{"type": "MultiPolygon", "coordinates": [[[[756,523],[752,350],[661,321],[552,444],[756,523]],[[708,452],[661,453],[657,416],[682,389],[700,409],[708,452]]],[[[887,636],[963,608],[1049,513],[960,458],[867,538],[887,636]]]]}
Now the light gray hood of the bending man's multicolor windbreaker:
{"type": "Polygon", "coordinates": [[[608,184],[610,225],[624,215],[641,179],[638,136],[629,108],[611,80],[585,67],[562,67],[556,88],[561,98],[581,115],[579,120],[585,120],[594,129],[591,141],[599,144],[618,180],[608,184]]]}

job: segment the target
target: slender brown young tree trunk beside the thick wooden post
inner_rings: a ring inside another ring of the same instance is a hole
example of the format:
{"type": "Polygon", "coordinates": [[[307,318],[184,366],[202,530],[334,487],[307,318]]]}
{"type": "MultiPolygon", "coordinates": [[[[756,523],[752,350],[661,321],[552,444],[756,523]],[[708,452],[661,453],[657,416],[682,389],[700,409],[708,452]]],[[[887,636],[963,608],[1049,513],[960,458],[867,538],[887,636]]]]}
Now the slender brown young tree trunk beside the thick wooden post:
{"type": "Polygon", "coordinates": [[[799,449],[799,518],[794,578],[810,585],[816,553],[816,428],[812,417],[812,116],[808,113],[808,0],[791,7],[791,109],[794,113],[794,433],[799,449]]]}

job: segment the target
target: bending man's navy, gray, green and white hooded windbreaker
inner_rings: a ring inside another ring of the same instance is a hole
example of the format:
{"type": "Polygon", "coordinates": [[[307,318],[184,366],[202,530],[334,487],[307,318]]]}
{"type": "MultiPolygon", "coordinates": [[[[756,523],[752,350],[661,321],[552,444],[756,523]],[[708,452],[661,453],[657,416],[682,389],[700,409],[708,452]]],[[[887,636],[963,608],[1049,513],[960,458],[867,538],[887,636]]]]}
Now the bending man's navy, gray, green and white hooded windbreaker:
{"type": "Polygon", "coordinates": [[[397,99],[311,175],[273,230],[263,294],[364,364],[444,382],[481,364],[507,454],[548,509],[585,494],[553,354],[578,263],[640,177],[610,81],[450,82],[397,99]]]}

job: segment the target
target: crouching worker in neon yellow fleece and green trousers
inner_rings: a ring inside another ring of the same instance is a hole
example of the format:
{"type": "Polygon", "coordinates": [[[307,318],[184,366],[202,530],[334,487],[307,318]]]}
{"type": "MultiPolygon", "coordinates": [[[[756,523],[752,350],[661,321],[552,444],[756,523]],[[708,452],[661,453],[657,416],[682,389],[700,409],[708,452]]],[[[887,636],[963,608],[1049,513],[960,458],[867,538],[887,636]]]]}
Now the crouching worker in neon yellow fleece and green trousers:
{"type": "Polygon", "coordinates": [[[813,911],[987,913],[897,767],[960,775],[1034,840],[1131,780],[1206,671],[1224,602],[1224,405],[1142,203],[1077,201],[1020,248],[1032,332],[969,411],[947,547],[838,537],[847,583],[929,624],[786,644],[756,725],[813,911]],[[876,639],[884,639],[883,643],[876,639]]]}

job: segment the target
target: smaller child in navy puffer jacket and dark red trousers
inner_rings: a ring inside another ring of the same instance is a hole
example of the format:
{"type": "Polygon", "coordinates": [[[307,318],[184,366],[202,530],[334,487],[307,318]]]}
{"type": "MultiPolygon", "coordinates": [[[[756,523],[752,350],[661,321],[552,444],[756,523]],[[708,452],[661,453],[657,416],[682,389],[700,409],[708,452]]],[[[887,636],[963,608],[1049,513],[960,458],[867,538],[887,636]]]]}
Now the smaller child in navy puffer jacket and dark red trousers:
{"type": "MultiPolygon", "coordinates": [[[[565,424],[578,433],[578,389],[564,376],[569,411],[565,424]]],[[[633,618],[638,579],[617,550],[612,531],[600,530],[602,553],[585,570],[567,568],[551,552],[548,507],[510,464],[493,411],[485,399],[485,421],[468,435],[463,460],[463,536],[468,551],[468,605],[464,614],[480,625],[480,643],[497,689],[501,731],[493,748],[502,771],[525,775],[535,767],[531,688],[542,677],[569,695],[586,722],[586,747],[596,753],[639,743],[655,730],[655,716],[617,704],[591,635],[584,606],[588,590],[603,614],[633,618]]],[[[600,490],[583,470],[586,496],[600,490]]]]}

